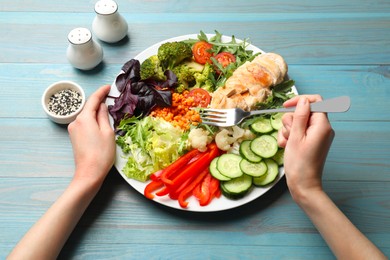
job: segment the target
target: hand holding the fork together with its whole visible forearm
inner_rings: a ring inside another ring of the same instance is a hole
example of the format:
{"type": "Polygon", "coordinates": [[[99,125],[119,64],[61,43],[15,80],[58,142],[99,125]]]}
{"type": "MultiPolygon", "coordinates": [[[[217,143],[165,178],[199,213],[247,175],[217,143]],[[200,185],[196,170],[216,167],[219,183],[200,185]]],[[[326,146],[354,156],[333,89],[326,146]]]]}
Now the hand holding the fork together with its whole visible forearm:
{"type": "Polygon", "coordinates": [[[386,259],[322,189],[322,171],[334,131],[325,113],[310,112],[310,102],[320,100],[318,95],[297,96],[284,103],[297,106],[294,113],[283,116],[278,134],[278,144],[285,148],[287,186],[337,259],[386,259]]]}

